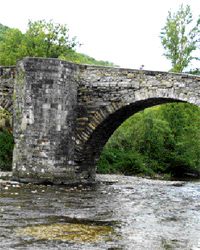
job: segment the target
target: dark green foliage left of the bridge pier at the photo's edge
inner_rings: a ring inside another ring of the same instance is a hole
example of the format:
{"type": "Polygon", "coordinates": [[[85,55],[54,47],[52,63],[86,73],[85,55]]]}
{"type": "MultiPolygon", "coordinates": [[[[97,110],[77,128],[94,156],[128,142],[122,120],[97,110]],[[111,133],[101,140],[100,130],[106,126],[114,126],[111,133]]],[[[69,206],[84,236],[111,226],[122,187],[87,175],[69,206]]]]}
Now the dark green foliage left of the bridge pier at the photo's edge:
{"type": "Polygon", "coordinates": [[[11,171],[14,140],[7,129],[0,130],[0,170],[11,171]]]}

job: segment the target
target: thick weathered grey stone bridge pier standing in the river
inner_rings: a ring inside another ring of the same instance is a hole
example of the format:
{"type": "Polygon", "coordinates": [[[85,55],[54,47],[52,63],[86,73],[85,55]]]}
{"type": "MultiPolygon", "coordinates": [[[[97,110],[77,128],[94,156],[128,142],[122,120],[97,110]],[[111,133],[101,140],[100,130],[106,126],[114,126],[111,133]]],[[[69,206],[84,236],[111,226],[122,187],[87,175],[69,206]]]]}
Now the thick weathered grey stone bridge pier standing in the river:
{"type": "Polygon", "coordinates": [[[13,178],[22,182],[92,182],[74,161],[76,65],[24,59],[14,88],[13,178]]]}

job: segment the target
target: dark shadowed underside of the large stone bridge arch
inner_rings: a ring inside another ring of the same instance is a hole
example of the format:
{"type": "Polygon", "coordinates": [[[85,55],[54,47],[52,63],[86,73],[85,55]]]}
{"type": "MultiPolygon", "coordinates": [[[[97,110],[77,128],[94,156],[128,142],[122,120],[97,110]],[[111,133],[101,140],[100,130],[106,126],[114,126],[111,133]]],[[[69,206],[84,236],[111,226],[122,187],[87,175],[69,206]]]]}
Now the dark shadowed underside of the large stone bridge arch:
{"type": "MultiPolygon", "coordinates": [[[[96,174],[96,163],[99,160],[103,147],[114,131],[130,116],[146,108],[167,103],[186,103],[172,98],[149,98],[126,105],[108,115],[93,131],[82,150],[81,169],[89,170],[91,177],[96,174]]],[[[90,177],[90,176],[89,176],[90,177]]]]}

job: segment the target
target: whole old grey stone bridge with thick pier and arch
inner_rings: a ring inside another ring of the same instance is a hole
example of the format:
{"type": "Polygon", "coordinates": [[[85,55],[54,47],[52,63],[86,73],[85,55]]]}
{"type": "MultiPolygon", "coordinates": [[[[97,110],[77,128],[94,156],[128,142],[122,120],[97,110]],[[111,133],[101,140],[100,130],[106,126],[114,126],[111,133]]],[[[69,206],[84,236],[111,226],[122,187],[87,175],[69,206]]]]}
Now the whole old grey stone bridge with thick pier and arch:
{"type": "Polygon", "coordinates": [[[56,59],[20,61],[14,86],[13,177],[25,182],[94,182],[103,146],[129,116],[168,102],[200,106],[199,76],[56,59]]]}

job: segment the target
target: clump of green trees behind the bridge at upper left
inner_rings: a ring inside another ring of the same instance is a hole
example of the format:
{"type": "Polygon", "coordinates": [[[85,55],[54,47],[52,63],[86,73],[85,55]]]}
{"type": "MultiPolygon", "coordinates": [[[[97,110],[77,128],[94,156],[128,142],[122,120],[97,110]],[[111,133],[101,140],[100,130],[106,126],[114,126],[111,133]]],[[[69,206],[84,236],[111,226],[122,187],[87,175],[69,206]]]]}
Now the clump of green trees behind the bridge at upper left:
{"type": "Polygon", "coordinates": [[[45,20],[28,23],[23,34],[18,29],[8,29],[0,41],[0,65],[14,65],[25,56],[58,58],[78,45],[69,37],[66,25],[45,20]]]}

